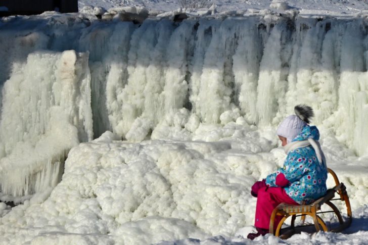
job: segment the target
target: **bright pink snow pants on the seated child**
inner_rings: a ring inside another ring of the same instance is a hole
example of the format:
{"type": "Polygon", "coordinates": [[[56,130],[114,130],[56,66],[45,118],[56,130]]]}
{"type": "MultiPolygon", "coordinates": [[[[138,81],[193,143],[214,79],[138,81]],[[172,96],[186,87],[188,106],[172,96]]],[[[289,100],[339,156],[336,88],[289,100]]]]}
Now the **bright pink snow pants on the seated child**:
{"type": "MultiPolygon", "coordinates": [[[[298,205],[292,200],[282,187],[262,187],[258,190],[256,216],[254,226],[269,229],[269,219],[273,209],[281,203],[298,205]]],[[[274,228],[277,228],[282,216],[276,216],[274,228]]]]}

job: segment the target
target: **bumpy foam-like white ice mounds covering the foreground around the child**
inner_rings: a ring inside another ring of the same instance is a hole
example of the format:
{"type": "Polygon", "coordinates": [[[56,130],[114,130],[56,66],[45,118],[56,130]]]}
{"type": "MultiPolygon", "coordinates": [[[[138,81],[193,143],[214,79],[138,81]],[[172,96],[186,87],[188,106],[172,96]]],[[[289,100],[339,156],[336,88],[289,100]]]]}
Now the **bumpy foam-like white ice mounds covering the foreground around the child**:
{"type": "MultiPolygon", "coordinates": [[[[196,141],[129,143],[105,132],[79,144],[70,151],[63,179],[51,194],[50,188],[2,212],[3,243],[244,242],[250,229],[242,227],[253,225],[256,204],[250,187],[282,166],[285,154],[281,148],[270,150],[277,144],[266,139],[270,132],[256,131],[240,118],[237,122],[201,124],[194,132],[196,141]]],[[[324,139],[329,166],[347,186],[354,216],[364,220],[368,182],[365,167],[357,167],[364,159],[352,157],[336,142],[324,139]],[[347,157],[339,158],[336,151],[347,157]]],[[[352,226],[351,232],[359,227],[352,226]]],[[[299,238],[350,239],[331,233],[299,238]]]]}

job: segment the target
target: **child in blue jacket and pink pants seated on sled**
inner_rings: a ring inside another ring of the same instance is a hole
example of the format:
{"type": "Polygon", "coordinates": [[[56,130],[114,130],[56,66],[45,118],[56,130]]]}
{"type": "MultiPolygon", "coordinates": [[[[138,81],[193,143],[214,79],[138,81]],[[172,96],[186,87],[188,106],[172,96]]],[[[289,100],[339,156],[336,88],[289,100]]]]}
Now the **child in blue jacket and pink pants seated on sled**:
{"type": "MultiPolygon", "coordinates": [[[[326,194],[327,167],[318,143],[319,131],[308,125],[313,110],[305,105],[294,110],[296,115],[284,119],[277,129],[287,154],[283,168],[252,186],[251,194],[257,197],[257,233],[249,233],[249,239],[268,233],[271,213],[279,204],[306,205],[326,194]]],[[[274,227],[281,218],[275,217],[274,227]]]]}

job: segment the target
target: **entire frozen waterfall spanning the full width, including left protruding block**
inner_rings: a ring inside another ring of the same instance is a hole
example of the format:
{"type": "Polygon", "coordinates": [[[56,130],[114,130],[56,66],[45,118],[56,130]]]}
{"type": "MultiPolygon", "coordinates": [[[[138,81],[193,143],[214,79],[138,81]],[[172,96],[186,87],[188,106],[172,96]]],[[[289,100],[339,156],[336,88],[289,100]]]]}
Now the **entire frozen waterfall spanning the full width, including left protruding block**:
{"type": "Polygon", "coordinates": [[[325,134],[366,155],[367,24],[276,15],[3,22],[2,192],[55,185],[65,154],[106,130],[141,141],[158,125],[189,134],[238,117],[276,126],[302,103],[325,134]]]}

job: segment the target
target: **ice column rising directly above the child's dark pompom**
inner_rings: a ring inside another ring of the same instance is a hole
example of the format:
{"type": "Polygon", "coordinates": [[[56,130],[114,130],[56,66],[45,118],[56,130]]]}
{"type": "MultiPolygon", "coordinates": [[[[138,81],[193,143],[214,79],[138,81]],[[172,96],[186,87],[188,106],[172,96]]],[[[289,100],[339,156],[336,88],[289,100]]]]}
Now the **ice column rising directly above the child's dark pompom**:
{"type": "Polygon", "coordinates": [[[337,39],[335,31],[327,30],[324,22],[308,23],[309,28],[305,25],[298,25],[288,76],[287,111],[293,111],[296,104],[310,105],[315,112],[313,123],[320,124],[336,109],[334,43],[337,39]]]}

